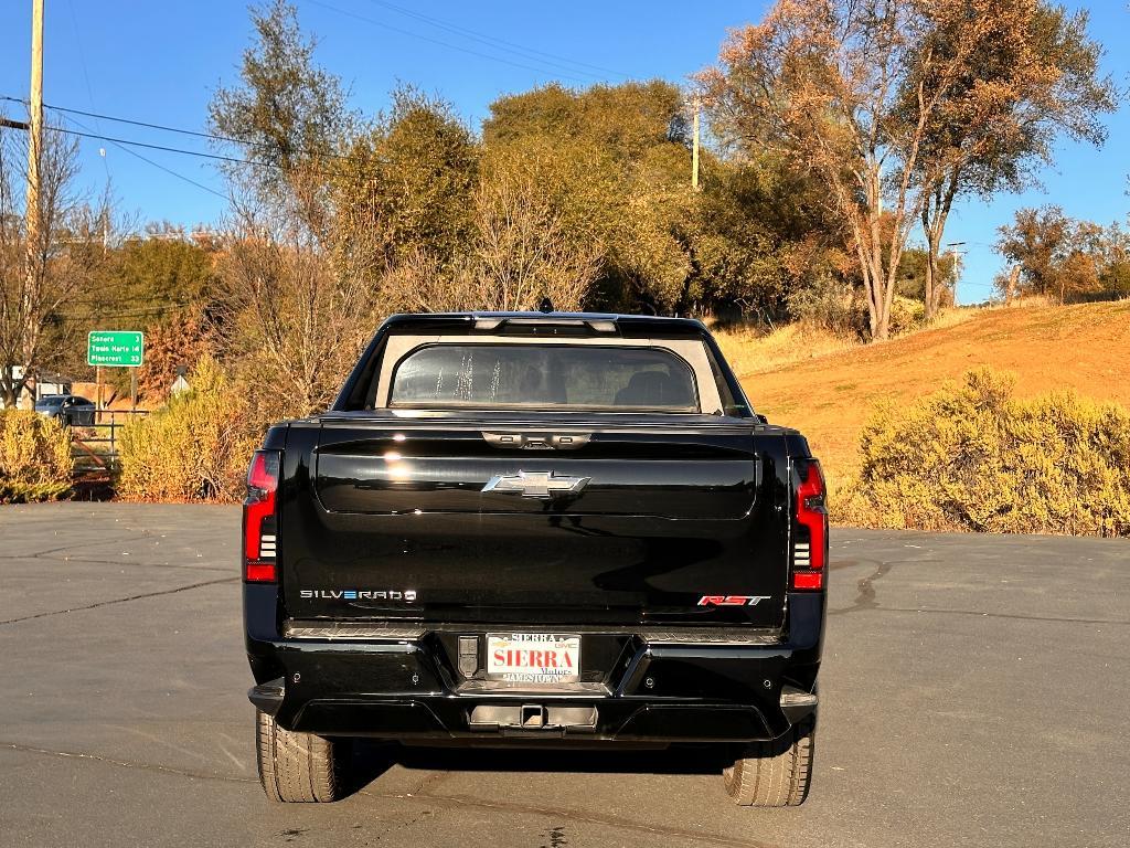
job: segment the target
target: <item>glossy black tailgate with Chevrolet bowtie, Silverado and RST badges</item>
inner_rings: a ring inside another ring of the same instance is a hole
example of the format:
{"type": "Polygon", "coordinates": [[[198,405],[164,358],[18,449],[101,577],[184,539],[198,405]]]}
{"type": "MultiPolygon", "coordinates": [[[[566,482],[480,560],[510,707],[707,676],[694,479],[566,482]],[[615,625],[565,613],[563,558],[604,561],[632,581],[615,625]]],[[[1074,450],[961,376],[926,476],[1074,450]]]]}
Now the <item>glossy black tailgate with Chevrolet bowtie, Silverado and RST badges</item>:
{"type": "Polygon", "coordinates": [[[282,499],[287,616],[779,626],[783,438],[666,418],[323,419],[282,499]]]}

